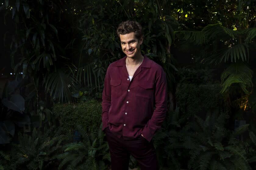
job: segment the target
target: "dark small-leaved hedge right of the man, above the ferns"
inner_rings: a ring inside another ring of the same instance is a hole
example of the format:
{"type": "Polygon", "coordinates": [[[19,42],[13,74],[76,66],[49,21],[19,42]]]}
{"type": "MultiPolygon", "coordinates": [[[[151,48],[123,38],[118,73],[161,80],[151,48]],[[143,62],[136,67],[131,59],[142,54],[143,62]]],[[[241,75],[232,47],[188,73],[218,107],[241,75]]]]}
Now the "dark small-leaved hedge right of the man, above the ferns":
{"type": "Polygon", "coordinates": [[[177,87],[176,100],[183,113],[205,115],[208,110],[227,109],[226,98],[219,84],[185,84],[177,87]]]}

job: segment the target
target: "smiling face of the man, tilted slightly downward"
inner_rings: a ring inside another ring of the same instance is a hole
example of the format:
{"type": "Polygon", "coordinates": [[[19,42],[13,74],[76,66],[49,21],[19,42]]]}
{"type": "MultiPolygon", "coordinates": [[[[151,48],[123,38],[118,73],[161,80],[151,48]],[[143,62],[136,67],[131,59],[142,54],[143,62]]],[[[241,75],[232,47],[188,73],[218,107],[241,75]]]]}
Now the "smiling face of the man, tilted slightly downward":
{"type": "Polygon", "coordinates": [[[137,58],[141,55],[140,45],[143,42],[143,38],[137,39],[134,32],[129,34],[120,34],[121,47],[123,52],[129,58],[137,58]]]}

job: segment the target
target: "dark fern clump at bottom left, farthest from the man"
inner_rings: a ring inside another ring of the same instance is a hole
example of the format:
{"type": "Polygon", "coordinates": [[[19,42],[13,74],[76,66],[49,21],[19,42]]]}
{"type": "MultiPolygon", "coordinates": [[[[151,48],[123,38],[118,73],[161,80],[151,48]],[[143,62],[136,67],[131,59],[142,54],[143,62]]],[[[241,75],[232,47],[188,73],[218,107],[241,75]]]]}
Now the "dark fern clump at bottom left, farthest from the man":
{"type": "Polygon", "coordinates": [[[13,165],[14,169],[42,170],[51,168],[56,161],[55,155],[61,151],[63,143],[69,138],[62,134],[61,128],[54,126],[44,132],[34,128],[32,135],[19,135],[19,144],[16,144],[18,159],[13,165]]]}

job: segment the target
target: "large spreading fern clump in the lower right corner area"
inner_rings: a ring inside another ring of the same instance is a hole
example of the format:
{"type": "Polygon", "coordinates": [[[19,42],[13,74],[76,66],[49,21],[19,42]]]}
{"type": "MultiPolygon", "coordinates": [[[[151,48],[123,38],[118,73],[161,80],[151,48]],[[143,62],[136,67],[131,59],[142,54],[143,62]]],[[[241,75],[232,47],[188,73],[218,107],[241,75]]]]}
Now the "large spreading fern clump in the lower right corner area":
{"type": "Polygon", "coordinates": [[[190,149],[189,169],[251,169],[246,151],[236,139],[249,124],[231,132],[225,128],[227,118],[225,113],[209,112],[205,120],[195,116],[187,125],[190,128],[184,146],[190,149]]]}

